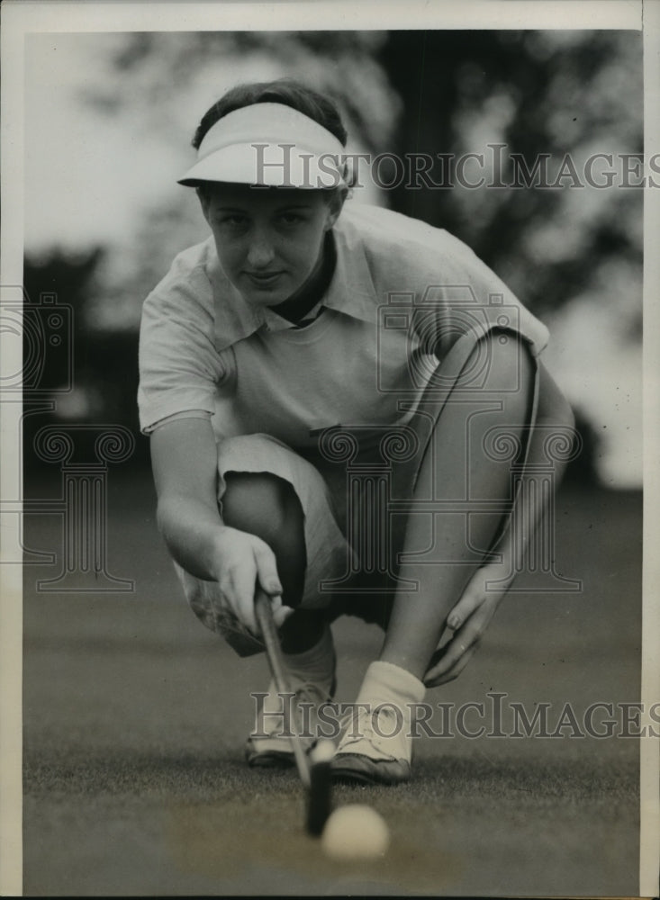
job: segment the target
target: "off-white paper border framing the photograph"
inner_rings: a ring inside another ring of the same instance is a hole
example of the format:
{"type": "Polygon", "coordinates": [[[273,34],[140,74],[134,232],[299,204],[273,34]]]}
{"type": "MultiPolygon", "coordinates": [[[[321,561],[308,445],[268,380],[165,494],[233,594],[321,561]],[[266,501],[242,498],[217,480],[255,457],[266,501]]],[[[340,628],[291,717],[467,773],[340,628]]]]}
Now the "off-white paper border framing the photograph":
{"type": "MultiPolygon", "coordinates": [[[[645,75],[645,159],[660,149],[660,4],[627,0],[531,2],[449,2],[420,0],[357,6],[333,2],[238,3],[59,3],[5,0],[2,7],[2,205],[5,229],[0,253],[0,285],[23,281],[23,38],[33,31],[302,31],[393,29],[632,29],[643,32],[645,75]],[[267,28],[265,28],[267,23],[267,28]],[[222,27],[220,27],[222,26],[222,27]],[[9,223],[7,226],[6,223],[9,223]]],[[[644,545],[659,543],[660,509],[660,190],[645,189],[644,209],[644,545]]],[[[5,290],[5,288],[0,288],[5,290]]],[[[16,341],[0,334],[4,371],[21,370],[16,341]]],[[[15,491],[20,478],[17,428],[20,401],[0,404],[0,496],[15,491]]],[[[0,563],[20,547],[20,516],[2,523],[0,563]],[[14,530],[13,530],[14,529],[14,530]]],[[[22,567],[2,564],[0,580],[0,895],[20,896],[22,866],[22,567]]],[[[660,554],[643,563],[642,703],[657,699],[660,684],[660,554]]],[[[642,723],[644,724],[644,722],[642,723]]],[[[640,896],[658,893],[660,798],[657,776],[660,742],[640,740],[640,896]]]]}

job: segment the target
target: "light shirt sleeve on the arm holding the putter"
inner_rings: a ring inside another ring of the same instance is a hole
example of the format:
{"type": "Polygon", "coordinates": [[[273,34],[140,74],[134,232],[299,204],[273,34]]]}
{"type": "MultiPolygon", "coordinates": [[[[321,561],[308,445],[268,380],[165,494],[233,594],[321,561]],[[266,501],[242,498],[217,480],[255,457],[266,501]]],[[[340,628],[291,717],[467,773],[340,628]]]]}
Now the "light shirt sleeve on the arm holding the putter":
{"type": "Polygon", "coordinates": [[[230,377],[227,353],[213,343],[211,286],[199,268],[164,279],[149,294],[140,324],[140,430],[188,413],[215,411],[219,387],[230,377]]]}

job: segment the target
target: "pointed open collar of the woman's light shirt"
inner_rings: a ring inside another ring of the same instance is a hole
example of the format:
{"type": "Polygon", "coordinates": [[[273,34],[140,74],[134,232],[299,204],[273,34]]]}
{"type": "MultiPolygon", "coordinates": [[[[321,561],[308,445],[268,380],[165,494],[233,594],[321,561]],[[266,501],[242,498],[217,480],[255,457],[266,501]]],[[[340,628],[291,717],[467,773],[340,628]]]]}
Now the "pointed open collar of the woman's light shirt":
{"type": "MultiPolygon", "coordinates": [[[[334,226],[337,262],[330,287],[321,305],[343,312],[353,319],[374,324],[378,303],[365,248],[359,231],[344,220],[342,213],[334,226]]],[[[215,347],[218,352],[231,347],[259,330],[282,331],[293,323],[268,308],[250,307],[222,271],[213,238],[206,242],[206,273],[211,282],[215,309],[215,347]]]]}

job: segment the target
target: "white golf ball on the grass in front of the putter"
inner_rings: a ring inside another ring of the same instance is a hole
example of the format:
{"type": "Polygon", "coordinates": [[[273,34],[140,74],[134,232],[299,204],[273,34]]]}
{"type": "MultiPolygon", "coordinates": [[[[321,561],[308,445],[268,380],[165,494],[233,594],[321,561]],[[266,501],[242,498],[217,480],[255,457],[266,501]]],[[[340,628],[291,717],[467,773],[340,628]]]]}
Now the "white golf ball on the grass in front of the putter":
{"type": "Polygon", "coordinates": [[[339,806],[323,829],[321,847],[333,860],[375,860],[390,844],[382,815],[365,804],[339,806]]]}

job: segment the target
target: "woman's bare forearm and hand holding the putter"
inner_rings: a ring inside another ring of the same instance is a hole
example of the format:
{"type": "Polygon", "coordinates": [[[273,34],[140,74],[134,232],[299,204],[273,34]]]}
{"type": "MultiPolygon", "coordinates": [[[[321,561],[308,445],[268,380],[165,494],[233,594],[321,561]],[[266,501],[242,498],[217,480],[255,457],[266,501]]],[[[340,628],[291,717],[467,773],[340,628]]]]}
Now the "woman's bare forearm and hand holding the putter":
{"type": "Polygon", "coordinates": [[[260,538],[223,524],[217,501],[217,448],[208,419],[175,419],[151,435],[158,495],[158,528],[186,572],[217,581],[218,602],[254,634],[257,581],[274,598],[277,625],[283,608],[275,554],[260,538]]]}

